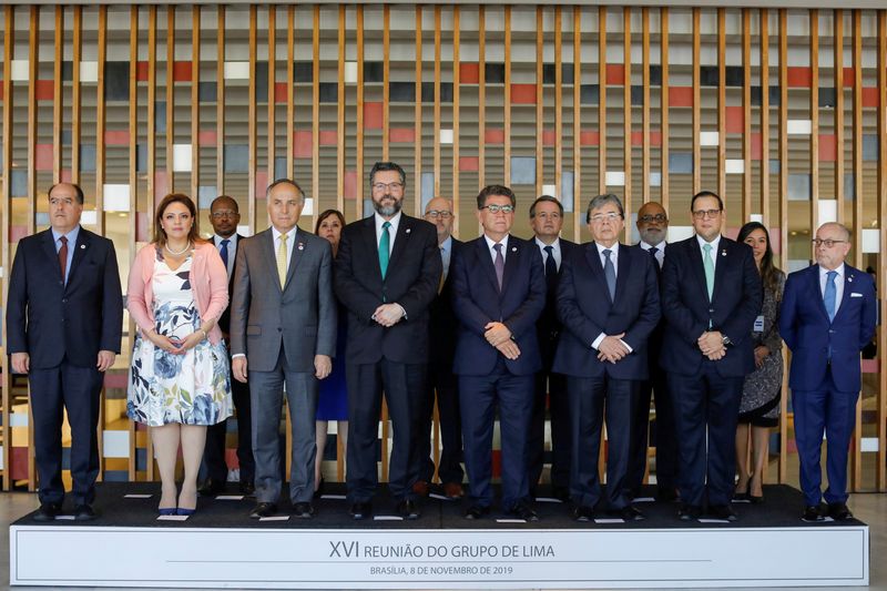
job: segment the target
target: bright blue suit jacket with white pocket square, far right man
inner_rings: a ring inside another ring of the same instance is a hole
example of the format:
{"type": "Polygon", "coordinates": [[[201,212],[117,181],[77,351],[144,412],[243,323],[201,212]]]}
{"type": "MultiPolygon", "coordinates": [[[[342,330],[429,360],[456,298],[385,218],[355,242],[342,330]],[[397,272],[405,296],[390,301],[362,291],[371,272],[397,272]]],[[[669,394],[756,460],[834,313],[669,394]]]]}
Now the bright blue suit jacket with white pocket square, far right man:
{"type": "Polygon", "coordinates": [[[868,273],[845,264],[844,295],[832,322],[823,303],[819,265],[788,275],[779,316],[779,332],[792,349],[788,386],[820,388],[830,347],[835,385],[842,391],[859,391],[859,353],[875,334],[876,316],[875,282],[868,273]]]}

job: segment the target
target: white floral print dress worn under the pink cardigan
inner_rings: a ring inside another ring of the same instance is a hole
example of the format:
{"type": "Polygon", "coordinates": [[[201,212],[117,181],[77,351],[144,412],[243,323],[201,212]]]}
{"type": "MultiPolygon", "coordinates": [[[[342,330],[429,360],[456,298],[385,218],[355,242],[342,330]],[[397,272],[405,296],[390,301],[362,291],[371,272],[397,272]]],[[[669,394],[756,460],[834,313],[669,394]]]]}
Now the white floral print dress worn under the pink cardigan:
{"type": "MultiPolygon", "coordinates": [[[[201,318],[188,279],[192,257],[175,271],[157,253],[154,261],[154,330],[182,340],[200,328],[201,318]]],[[[208,339],[175,355],[157,348],[141,332],[135,337],[126,415],[160,427],[171,422],[215,425],[232,415],[231,373],[224,342],[208,339]]]]}

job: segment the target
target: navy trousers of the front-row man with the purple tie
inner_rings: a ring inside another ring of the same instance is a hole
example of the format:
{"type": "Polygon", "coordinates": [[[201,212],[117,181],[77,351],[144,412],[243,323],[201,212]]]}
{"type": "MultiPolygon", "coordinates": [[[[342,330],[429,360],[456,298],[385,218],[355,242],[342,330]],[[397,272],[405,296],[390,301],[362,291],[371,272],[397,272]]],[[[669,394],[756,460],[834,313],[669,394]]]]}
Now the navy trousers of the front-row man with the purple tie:
{"type": "Polygon", "coordinates": [[[465,466],[473,505],[492,505],[492,431],[497,406],[502,442],[502,508],[511,509],[530,493],[527,434],[533,403],[533,376],[514,376],[500,356],[486,376],[459,376],[465,466]]]}

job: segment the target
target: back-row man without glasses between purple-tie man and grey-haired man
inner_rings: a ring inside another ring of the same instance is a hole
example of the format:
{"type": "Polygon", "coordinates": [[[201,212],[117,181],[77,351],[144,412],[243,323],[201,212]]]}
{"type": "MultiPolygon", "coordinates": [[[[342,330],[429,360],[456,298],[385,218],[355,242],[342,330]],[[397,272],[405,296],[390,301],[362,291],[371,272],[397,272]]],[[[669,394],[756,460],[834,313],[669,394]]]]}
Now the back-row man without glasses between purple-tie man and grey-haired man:
{"type": "Polygon", "coordinates": [[[536,235],[533,242],[542,254],[542,267],[546,269],[546,309],[536,325],[542,370],[536,375],[536,398],[528,441],[530,496],[536,496],[536,487],[542,475],[548,400],[551,412],[551,495],[565,501],[570,498],[570,407],[567,379],[561,374],[551,371],[551,364],[561,330],[555,308],[561,262],[577,245],[560,237],[563,205],[550,195],[542,195],[530,205],[530,227],[536,235]]]}

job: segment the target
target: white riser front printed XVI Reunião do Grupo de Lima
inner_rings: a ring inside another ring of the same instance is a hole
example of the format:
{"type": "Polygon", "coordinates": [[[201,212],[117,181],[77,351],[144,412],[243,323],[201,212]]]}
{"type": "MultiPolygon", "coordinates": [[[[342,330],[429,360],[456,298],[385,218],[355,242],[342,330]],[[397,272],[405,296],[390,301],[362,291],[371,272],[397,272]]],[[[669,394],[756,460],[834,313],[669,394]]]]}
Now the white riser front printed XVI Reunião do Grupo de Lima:
{"type": "Polygon", "coordinates": [[[10,527],[10,583],[22,585],[835,587],[868,584],[868,558],[866,526],[581,531],[10,527]]]}

